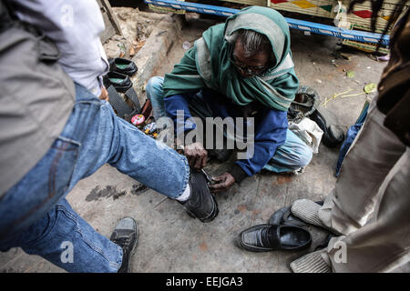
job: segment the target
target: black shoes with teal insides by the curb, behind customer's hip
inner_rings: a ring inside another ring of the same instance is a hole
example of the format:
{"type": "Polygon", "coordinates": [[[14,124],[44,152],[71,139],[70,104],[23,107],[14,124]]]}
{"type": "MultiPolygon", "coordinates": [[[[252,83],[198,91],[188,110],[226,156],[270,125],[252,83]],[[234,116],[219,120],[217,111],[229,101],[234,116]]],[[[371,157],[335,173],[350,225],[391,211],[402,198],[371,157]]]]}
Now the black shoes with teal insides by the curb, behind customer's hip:
{"type": "Polygon", "coordinates": [[[125,58],[110,58],[108,59],[109,72],[104,76],[105,86],[110,85],[120,93],[126,93],[132,87],[132,82],[129,76],[134,75],[137,71],[137,65],[134,62],[125,58]]]}

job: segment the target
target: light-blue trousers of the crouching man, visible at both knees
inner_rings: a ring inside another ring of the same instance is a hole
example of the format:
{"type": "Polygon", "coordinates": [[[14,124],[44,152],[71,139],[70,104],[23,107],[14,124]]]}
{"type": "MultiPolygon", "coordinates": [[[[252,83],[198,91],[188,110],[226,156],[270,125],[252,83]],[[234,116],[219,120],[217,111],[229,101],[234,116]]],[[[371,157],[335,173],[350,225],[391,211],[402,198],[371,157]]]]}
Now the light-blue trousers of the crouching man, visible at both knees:
{"type": "MultiPolygon", "coordinates": [[[[164,104],[164,92],[162,90],[163,82],[163,77],[155,76],[149,79],[146,86],[147,97],[152,104],[153,114],[156,119],[167,115],[164,104]]],[[[225,105],[215,106],[206,104],[204,99],[201,99],[198,95],[196,95],[196,98],[192,98],[190,102],[192,103],[190,104],[191,113],[201,118],[207,116],[220,116],[224,118],[226,116],[222,116],[222,114],[229,111],[227,110],[229,108],[226,108],[225,105]],[[210,108],[214,108],[212,112],[210,112],[210,108]]],[[[288,129],[285,143],[276,148],[275,154],[271,160],[263,166],[263,169],[275,173],[292,172],[299,170],[303,166],[307,166],[311,162],[312,156],[312,149],[288,129]]]]}

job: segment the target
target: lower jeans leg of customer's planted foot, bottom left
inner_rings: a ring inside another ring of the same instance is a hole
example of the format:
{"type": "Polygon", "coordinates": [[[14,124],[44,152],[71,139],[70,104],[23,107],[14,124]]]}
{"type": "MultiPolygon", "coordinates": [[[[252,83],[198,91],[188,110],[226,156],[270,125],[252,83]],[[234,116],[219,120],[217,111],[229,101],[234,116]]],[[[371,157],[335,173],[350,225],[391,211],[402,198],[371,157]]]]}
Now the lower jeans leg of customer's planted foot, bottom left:
{"type": "Polygon", "coordinates": [[[42,256],[67,272],[113,273],[122,263],[121,247],[98,234],[65,198],[20,237],[18,245],[27,254],[42,256]]]}

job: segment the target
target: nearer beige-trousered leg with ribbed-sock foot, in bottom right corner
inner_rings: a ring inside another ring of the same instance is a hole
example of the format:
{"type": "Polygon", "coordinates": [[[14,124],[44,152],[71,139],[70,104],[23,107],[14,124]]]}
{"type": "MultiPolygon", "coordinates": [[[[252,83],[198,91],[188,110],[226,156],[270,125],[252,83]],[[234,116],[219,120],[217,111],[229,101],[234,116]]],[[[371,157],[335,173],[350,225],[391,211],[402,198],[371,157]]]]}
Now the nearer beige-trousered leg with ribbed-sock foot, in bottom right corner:
{"type": "Polygon", "coordinates": [[[410,148],[377,192],[372,221],[327,248],[302,256],[293,272],[390,272],[410,261],[410,148]]]}

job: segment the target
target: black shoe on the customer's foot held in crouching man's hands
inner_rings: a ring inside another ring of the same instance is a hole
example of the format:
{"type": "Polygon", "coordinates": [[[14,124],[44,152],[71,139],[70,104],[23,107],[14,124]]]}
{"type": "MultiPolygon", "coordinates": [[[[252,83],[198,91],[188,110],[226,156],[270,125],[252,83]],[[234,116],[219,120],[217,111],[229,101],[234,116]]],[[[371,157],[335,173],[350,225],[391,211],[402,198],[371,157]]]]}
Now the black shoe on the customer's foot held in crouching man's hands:
{"type": "Polygon", "coordinates": [[[218,204],[210,193],[206,177],[195,170],[190,174],[190,198],[179,203],[190,216],[200,219],[203,223],[210,222],[219,213],[218,204]]]}

